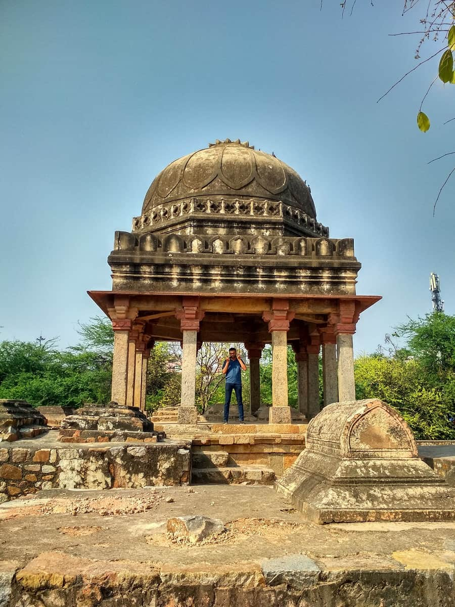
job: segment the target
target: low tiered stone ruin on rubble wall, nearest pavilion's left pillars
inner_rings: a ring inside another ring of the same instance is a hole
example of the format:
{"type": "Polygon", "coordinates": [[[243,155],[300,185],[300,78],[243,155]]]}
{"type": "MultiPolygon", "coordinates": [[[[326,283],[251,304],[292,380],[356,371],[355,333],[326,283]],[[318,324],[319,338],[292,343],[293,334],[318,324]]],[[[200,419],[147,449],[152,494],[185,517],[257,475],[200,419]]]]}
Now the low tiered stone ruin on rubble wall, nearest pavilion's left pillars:
{"type": "Polygon", "coordinates": [[[90,403],[61,422],[61,443],[133,442],[156,443],[164,432],[155,432],[153,423],[137,407],[90,403]]]}

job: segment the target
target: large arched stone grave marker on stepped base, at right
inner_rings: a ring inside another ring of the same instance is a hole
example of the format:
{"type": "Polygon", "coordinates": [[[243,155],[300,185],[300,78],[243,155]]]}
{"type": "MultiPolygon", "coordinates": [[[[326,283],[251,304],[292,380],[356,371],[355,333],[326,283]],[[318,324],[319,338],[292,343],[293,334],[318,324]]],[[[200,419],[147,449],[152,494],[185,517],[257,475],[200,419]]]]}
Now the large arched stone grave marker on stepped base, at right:
{"type": "Polygon", "coordinates": [[[325,407],[275,489],[318,524],[455,519],[455,490],[419,458],[399,413],[377,399],[325,407]]]}

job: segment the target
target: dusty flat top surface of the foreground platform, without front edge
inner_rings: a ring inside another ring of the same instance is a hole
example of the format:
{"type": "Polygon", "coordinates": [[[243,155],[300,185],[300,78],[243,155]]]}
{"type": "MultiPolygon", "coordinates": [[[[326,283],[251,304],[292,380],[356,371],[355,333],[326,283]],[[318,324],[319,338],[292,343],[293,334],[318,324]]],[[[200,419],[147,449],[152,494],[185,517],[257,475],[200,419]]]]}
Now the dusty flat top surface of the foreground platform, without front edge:
{"type": "Polygon", "coordinates": [[[292,504],[264,486],[53,489],[0,506],[2,559],[25,566],[49,551],[169,566],[305,554],[331,569],[406,568],[416,562],[424,569],[453,569],[455,523],[318,526],[305,523],[292,504]],[[166,521],[187,514],[220,518],[226,532],[201,544],[177,544],[167,535],[166,521]]]}

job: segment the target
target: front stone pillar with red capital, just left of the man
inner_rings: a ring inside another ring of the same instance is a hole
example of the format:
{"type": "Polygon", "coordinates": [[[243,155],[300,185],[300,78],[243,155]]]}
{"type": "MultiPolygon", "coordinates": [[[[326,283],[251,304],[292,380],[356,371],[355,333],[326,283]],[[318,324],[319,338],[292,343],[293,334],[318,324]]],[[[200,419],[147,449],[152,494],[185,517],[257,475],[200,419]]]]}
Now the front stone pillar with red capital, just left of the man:
{"type": "Polygon", "coordinates": [[[180,330],[183,333],[181,363],[181,401],[177,412],[179,424],[197,424],[195,407],[196,356],[199,323],[204,314],[198,309],[198,297],[183,297],[183,308],[177,310],[180,330]]]}

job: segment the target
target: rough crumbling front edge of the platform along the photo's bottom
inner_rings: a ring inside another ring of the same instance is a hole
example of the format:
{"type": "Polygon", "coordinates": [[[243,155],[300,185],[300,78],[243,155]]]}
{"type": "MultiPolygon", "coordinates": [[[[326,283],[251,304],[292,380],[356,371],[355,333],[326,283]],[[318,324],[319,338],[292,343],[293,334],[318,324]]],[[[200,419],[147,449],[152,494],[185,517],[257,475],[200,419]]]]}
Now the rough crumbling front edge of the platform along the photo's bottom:
{"type": "Polygon", "coordinates": [[[260,563],[154,568],[43,553],[22,569],[2,561],[0,606],[383,607],[453,605],[454,566],[322,570],[305,555],[260,563]],[[55,567],[56,560],[59,565],[55,567]],[[273,562],[275,561],[275,563],[273,562]],[[281,563],[280,563],[281,561],[281,563]],[[284,562],[283,562],[284,561],[284,562]],[[287,562],[286,562],[287,561],[287,562]],[[45,563],[50,563],[44,566],[45,563]]]}

